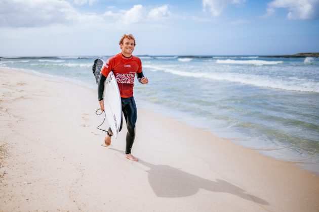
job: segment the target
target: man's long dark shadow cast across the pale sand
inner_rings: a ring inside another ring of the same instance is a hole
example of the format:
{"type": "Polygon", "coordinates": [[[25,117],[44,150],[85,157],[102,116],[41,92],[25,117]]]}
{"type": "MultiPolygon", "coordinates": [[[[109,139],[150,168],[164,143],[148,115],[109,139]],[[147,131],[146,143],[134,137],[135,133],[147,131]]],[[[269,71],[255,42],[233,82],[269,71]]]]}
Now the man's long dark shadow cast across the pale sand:
{"type": "MultiPolygon", "coordinates": [[[[121,150],[109,149],[125,153],[121,150]]],[[[135,163],[149,168],[146,171],[148,173],[148,182],[158,197],[191,196],[201,188],[212,192],[230,193],[259,204],[269,204],[267,201],[247,193],[244,189],[221,179],[211,181],[168,165],[153,165],[142,160],[135,163]]]]}

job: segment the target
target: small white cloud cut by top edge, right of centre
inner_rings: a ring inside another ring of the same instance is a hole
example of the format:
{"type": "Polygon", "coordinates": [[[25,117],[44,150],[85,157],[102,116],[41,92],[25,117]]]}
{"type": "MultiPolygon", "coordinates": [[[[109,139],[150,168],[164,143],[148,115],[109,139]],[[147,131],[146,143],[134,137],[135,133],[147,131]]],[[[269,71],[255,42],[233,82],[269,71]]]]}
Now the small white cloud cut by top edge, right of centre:
{"type": "Polygon", "coordinates": [[[211,12],[213,16],[219,16],[221,12],[231,4],[242,4],[246,0],[203,0],[203,10],[206,8],[211,12]]]}

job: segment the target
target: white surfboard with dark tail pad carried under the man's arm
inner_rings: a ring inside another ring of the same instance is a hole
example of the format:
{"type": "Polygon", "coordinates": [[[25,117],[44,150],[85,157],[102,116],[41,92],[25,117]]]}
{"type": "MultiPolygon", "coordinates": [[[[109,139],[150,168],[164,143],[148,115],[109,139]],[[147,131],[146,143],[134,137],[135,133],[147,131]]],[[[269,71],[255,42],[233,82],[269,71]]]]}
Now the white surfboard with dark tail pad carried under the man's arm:
{"type": "MultiPolygon", "coordinates": [[[[96,79],[96,84],[98,84],[103,65],[104,61],[102,59],[96,59],[94,61],[92,70],[96,79]]],[[[117,138],[122,120],[122,102],[117,81],[112,71],[108,74],[104,82],[103,100],[105,117],[113,135],[117,138]]],[[[108,130],[108,127],[103,126],[103,128],[106,128],[106,131],[108,130]]]]}

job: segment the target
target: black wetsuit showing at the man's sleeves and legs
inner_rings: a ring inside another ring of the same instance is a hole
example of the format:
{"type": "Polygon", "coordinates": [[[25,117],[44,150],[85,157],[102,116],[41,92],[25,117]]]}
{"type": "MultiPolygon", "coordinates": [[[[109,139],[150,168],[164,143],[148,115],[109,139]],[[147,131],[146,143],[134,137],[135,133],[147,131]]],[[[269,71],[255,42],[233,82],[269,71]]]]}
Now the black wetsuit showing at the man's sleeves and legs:
{"type": "MultiPolygon", "coordinates": [[[[143,72],[137,73],[137,79],[139,82],[141,82],[142,77],[144,77],[143,72]]],[[[99,101],[103,99],[103,91],[104,91],[104,81],[106,80],[106,77],[103,74],[100,74],[99,81],[98,81],[98,95],[99,95],[99,101]]],[[[131,154],[131,149],[134,143],[135,139],[135,124],[137,120],[137,108],[135,104],[134,97],[128,97],[123,98],[121,97],[122,101],[122,112],[126,121],[128,132],[126,134],[126,154],[131,154]]],[[[122,130],[123,127],[123,117],[121,119],[121,127],[119,128],[119,131],[122,130]]],[[[109,136],[113,135],[113,132],[111,128],[108,129],[107,134],[109,136]]]]}

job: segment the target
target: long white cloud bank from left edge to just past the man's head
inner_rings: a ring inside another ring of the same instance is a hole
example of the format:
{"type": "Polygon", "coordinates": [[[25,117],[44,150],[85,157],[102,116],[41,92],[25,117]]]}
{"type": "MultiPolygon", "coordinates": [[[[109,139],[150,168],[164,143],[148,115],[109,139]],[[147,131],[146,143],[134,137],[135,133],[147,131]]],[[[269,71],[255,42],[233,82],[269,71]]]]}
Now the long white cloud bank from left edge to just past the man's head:
{"type": "Polygon", "coordinates": [[[161,21],[170,17],[168,6],[157,8],[135,5],[129,10],[109,7],[103,15],[78,12],[72,4],[93,4],[97,0],[0,0],[0,28],[35,28],[52,25],[97,26],[101,24],[129,25],[161,21]]]}

